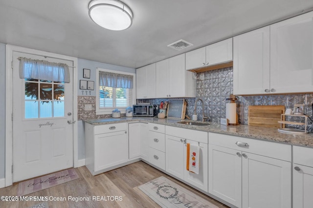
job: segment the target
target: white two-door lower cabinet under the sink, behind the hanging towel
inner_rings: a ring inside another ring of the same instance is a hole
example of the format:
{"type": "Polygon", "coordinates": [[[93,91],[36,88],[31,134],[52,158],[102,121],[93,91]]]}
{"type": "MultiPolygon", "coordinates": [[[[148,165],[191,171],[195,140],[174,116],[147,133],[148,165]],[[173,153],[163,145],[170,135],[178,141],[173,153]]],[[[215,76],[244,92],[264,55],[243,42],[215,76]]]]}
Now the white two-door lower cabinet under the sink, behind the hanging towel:
{"type": "Polygon", "coordinates": [[[207,132],[187,130],[176,127],[165,127],[166,146],[166,171],[189,184],[208,191],[208,147],[207,132]],[[176,136],[173,136],[176,135],[176,136]],[[200,170],[199,174],[186,170],[187,147],[186,144],[200,146],[200,170]]]}

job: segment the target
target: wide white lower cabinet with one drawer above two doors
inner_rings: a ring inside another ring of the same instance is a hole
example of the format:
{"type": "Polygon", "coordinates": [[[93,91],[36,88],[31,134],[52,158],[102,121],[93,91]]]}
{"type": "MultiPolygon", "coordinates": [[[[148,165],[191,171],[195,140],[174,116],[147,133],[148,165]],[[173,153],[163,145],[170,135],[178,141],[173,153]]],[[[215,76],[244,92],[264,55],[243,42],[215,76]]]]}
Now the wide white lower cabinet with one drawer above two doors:
{"type": "Polygon", "coordinates": [[[291,146],[209,133],[209,193],[238,208],[291,208],[291,146]]]}

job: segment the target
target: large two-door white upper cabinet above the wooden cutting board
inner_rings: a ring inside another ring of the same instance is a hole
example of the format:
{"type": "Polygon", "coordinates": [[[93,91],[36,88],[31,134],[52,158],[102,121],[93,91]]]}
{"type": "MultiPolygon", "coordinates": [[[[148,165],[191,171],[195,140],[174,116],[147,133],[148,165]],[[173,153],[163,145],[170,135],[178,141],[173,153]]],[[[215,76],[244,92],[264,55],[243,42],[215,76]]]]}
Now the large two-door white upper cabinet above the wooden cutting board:
{"type": "Polygon", "coordinates": [[[234,95],[313,91],[313,12],[233,40],[234,95]]]}

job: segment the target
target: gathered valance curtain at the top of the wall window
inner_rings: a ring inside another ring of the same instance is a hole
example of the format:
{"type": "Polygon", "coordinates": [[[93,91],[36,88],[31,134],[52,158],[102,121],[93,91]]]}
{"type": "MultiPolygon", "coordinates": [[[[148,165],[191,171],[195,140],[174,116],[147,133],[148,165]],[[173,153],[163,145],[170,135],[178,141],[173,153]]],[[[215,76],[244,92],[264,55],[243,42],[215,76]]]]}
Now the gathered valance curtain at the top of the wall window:
{"type": "Polygon", "coordinates": [[[115,74],[111,72],[99,72],[99,85],[114,88],[133,88],[133,76],[115,74]]]}

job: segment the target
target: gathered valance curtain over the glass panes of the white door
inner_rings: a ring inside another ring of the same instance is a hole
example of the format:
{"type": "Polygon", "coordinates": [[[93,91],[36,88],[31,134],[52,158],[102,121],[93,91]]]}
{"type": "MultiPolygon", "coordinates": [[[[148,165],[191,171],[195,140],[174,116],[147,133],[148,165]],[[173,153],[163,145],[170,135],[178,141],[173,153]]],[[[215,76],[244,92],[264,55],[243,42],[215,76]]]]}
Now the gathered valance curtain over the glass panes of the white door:
{"type": "Polygon", "coordinates": [[[19,57],[20,78],[42,79],[47,81],[69,83],[68,65],[64,63],[53,63],[45,60],[34,60],[19,57]]]}

